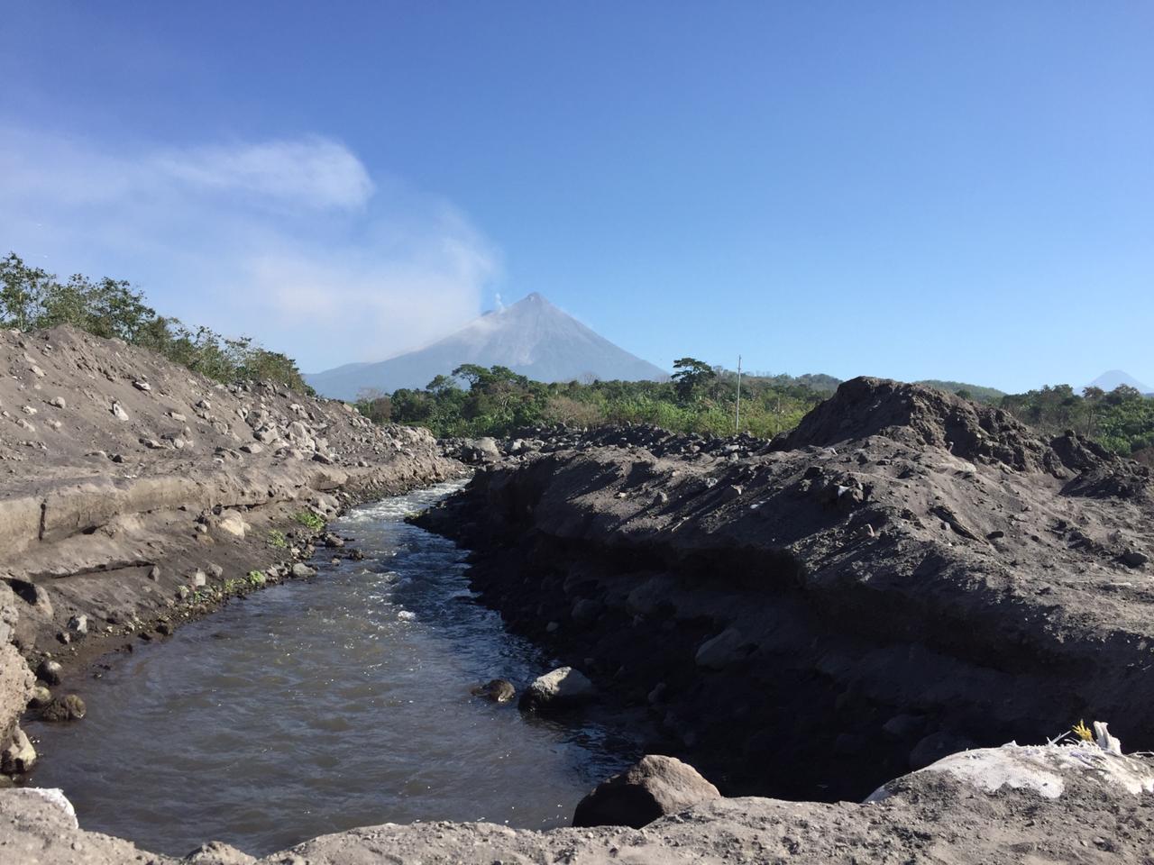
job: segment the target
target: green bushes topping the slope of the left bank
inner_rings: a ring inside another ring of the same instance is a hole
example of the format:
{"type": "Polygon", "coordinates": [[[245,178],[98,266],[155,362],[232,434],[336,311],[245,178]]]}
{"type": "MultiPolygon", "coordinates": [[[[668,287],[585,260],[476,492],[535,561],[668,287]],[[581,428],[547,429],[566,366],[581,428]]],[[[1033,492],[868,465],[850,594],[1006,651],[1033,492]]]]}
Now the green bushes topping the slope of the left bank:
{"type": "Polygon", "coordinates": [[[159,352],[168,360],[215,378],[272,381],[312,393],[295,362],[261,348],[248,337],[230,338],[208,328],[188,328],[157,315],[141,292],[121,279],[76,273],[60,280],[31,268],[15,253],[0,258],[0,326],[33,330],[72,324],[106,339],[159,352]]]}

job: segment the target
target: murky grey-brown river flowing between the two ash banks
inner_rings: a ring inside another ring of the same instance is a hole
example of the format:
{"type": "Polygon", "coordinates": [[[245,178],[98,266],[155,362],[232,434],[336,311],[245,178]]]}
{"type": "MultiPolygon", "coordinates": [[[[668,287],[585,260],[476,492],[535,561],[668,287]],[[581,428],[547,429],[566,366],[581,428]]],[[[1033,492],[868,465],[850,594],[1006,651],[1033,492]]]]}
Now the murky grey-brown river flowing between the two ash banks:
{"type": "Polygon", "coordinates": [[[30,725],[33,783],[62,788],[84,828],[175,855],[382,822],[568,825],[628,743],[470,695],[548,659],[472,602],[460,550],[403,521],[450,489],[335,524],[364,562],[319,564],[115,660],[78,690],[87,719],[30,725]]]}

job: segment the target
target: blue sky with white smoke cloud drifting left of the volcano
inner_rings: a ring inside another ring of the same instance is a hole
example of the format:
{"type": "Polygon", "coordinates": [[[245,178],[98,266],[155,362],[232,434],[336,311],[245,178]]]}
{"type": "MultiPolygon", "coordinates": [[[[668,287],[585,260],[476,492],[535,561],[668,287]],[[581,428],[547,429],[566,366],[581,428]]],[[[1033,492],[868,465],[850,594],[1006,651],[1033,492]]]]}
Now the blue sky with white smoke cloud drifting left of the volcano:
{"type": "Polygon", "coordinates": [[[0,251],[308,371],[538,291],[666,368],[1154,384],[1154,3],[0,12],[0,251]]]}

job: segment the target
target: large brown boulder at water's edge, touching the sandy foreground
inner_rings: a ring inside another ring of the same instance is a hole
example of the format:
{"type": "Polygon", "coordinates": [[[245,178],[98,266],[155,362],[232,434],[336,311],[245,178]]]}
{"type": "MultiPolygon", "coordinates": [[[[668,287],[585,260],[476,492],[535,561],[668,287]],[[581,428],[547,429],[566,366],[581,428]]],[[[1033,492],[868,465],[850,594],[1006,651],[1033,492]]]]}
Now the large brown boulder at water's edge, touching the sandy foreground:
{"type": "Polygon", "coordinates": [[[630,826],[639,829],[721,793],[692,766],[673,757],[647,754],[614,775],[577,804],[575,827],[630,826]]]}

